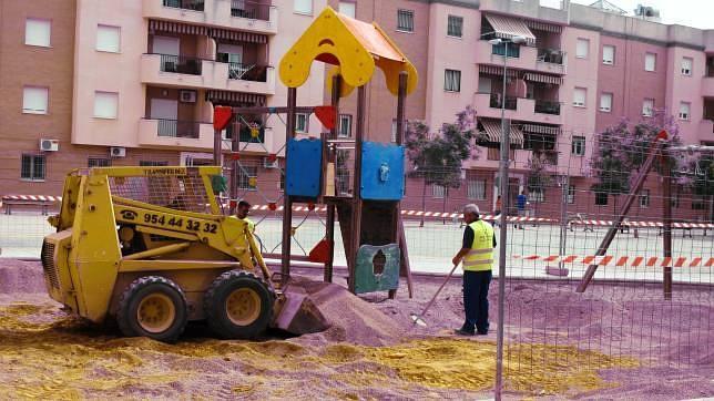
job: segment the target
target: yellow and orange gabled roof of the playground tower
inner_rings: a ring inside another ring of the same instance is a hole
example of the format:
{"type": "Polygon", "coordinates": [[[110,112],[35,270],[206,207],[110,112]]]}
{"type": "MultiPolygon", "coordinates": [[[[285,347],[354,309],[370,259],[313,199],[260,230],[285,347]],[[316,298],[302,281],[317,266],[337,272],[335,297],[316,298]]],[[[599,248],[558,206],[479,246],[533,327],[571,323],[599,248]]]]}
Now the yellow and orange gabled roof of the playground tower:
{"type": "Polygon", "coordinates": [[[283,56],[280,81],[288,88],[300,86],[307,81],[313,60],[338,65],[346,86],[369,82],[376,65],[385,73],[392,94],[398,93],[401,71],[408,73],[407,93],[417,88],[417,70],[376,22],[355,20],[330,7],[323,10],[283,56]]]}

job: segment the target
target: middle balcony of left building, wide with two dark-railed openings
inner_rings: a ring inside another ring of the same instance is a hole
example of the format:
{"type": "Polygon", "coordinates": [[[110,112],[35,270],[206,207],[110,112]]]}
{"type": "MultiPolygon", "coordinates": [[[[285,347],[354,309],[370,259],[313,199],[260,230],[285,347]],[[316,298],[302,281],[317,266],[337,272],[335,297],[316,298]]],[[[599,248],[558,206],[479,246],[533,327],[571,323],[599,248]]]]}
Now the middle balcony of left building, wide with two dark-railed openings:
{"type": "Polygon", "coordinates": [[[275,69],[269,65],[223,63],[183,55],[143,54],[141,78],[143,83],[163,86],[275,94],[275,69]]]}

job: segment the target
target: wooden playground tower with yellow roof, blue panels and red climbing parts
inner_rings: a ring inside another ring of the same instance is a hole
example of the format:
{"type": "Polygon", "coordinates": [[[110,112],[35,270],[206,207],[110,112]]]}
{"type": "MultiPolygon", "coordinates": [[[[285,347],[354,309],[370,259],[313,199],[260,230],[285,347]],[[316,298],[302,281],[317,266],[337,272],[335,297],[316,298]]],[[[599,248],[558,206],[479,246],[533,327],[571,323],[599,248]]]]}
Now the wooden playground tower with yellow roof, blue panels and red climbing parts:
{"type": "MultiPolygon", "coordinates": [[[[354,294],[388,290],[394,298],[399,277],[406,276],[411,295],[409,258],[399,202],[405,185],[405,152],[401,146],[405,101],[407,94],[417,86],[416,69],[376,23],[351,19],[327,7],[285,54],[280,61],[279,76],[288,88],[285,107],[215,107],[214,158],[217,164],[221,161],[221,132],[231,126],[234,133],[230,153],[232,209],[238,198],[237,182],[242,168],[242,141],[236,133],[247,131],[248,142],[257,143],[259,141],[255,140],[262,135],[262,126],[246,119],[246,115],[267,114],[279,117],[285,114],[285,192],[282,197],[280,244],[283,282],[286,284],[290,275],[290,239],[295,232],[292,226],[293,205],[307,204],[312,209],[315,204],[326,204],[325,238],[310,251],[310,260],[325,266],[324,280],[333,281],[337,219],[349,270],[349,290],[354,294]],[[327,74],[332,104],[298,106],[297,89],[306,82],[315,60],[332,65],[327,74]],[[366,85],[370,82],[375,68],[384,72],[388,90],[397,96],[396,144],[365,141],[366,85]],[[355,89],[355,136],[338,138],[336,122],[340,97],[348,96],[355,89]],[[296,138],[297,113],[314,113],[329,131],[322,134],[320,138],[296,138]],[[350,152],[351,155],[348,155],[350,152]]],[[[247,145],[246,143],[243,150],[247,145]]],[[[269,154],[267,158],[276,162],[277,155],[269,154]]],[[[268,204],[277,209],[278,200],[279,198],[268,204]]]]}

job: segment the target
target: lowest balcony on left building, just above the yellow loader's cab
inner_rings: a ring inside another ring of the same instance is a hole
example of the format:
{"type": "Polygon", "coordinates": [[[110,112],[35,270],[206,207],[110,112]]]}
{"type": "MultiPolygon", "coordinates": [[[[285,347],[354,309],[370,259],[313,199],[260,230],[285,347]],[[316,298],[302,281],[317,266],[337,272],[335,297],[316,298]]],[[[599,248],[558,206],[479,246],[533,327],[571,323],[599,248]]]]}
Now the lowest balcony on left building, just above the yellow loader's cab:
{"type": "Polygon", "coordinates": [[[211,150],[213,148],[213,124],[144,119],[139,122],[139,145],[211,150]]]}

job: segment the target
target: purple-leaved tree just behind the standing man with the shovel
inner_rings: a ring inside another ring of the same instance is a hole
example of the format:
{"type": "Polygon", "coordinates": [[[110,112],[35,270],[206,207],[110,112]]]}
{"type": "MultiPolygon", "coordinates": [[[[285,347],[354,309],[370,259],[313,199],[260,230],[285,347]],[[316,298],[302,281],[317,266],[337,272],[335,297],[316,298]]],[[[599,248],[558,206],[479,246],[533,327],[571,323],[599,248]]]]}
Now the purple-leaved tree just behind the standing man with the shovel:
{"type": "Polygon", "coordinates": [[[476,110],[467,106],[456,116],[455,123],[443,124],[438,133],[431,133],[422,121],[407,123],[405,145],[414,167],[410,175],[424,178],[422,210],[426,209],[427,185],[440,185],[445,188],[442,210],[446,212],[449,188],[461,185],[463,161],[478,157],[471,146],[471,140],[477,135],[476,110]]]}

